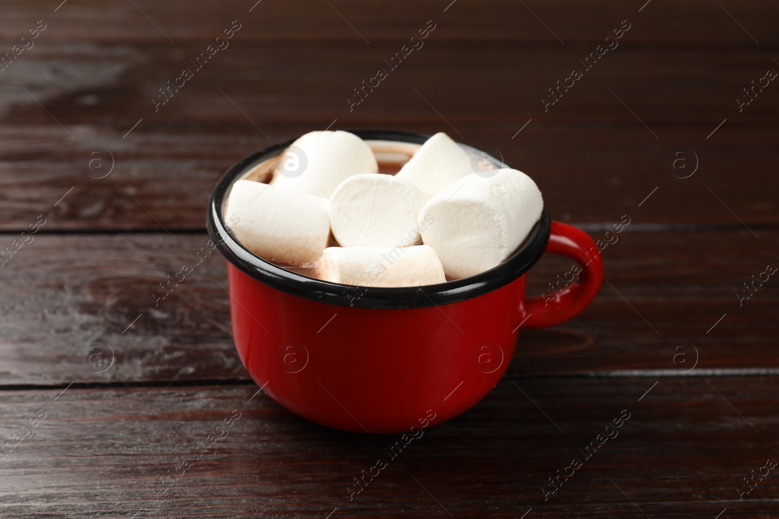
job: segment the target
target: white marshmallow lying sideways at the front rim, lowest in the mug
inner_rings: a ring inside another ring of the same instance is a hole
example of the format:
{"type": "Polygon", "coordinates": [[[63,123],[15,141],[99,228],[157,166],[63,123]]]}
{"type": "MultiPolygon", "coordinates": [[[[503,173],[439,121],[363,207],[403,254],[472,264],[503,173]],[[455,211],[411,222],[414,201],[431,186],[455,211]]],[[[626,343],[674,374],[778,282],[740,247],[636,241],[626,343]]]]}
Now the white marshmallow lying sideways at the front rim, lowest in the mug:
{"type": "Polygon", "coordinates": [[[319,277],[357,286],[422,286],[446,282],[441,261],[427,245],[327,247],[319,277]]]}

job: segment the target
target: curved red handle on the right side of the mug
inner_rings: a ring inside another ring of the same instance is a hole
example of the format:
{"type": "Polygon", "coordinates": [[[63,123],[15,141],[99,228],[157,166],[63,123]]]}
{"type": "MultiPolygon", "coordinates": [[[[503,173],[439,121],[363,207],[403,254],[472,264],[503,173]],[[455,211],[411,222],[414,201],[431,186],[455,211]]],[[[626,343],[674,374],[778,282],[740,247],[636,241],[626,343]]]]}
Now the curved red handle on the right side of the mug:
{"type": "Polygon", "coordinates": [[[581,280],[570,282],[553,297],[528,297],[523,328],[546,328],[576,317],[595,298],[603,282],[601,251],[583,230],[553,220],[546,252],[575,260],[581,268],[581,280]]]}

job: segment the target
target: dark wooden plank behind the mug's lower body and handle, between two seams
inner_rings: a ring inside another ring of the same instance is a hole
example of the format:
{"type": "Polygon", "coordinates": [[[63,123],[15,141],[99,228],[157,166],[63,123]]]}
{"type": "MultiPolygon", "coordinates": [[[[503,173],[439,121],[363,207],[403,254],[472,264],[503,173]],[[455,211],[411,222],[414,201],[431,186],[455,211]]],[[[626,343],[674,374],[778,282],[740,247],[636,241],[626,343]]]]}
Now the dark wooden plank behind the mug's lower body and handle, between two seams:
{"type": "MultiPolygon", "coordinates": [[[[672,374],[693,366],[694,348],[693,374],[779,368],[775,276],[741,307],[736,295],[748,294],[742,284],[766,265],[779,265],[771,252],[777,231],[759,229],[757,239],[746,229],[644,233],[633,225],[603,251],[611,285],[575,320],[522,331],[510,372],[672,374]]],[[[16,238],[0,237],[3,244],[16,238]]],[[[200,264],[193,258],[207,240],[199,233],[34,235],[0,267],[8,294],[0,300],[0,384],[245,380],[231,341],[224,259],[216,252],[200,264]],[[194,272],[155,307],[159,283],[184,263],[194,272]],[[108,366],[111,349],[115,363],[95,373],[108,366]],[[90,364],[95,352],[102,364],[90,364]]],[[[530,273],[530,295],[548,294],[548,283],[570,266],[542,260],[530,273]]]]}

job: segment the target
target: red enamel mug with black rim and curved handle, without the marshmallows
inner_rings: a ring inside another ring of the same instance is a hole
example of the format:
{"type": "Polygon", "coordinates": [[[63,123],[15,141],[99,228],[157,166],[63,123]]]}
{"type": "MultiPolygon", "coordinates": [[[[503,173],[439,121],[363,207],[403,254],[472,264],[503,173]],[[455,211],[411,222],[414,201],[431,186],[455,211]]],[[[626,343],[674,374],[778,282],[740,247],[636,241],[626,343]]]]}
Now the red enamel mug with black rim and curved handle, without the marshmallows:
{"type": "MultiPolygon", "coordinates": [[[[366,141],[421,144],[429,135],[354,130],[366,141]]],[[[224,174],[206,225],[227,258],[235,346],[270,398],[312,422],[358,433],[398,433],[442,423],[498,384],[520,328],[554,326],[597,294],[603,261],[590,236],[541,219],[510,258],[438,285],[379,288],[310,278],[243,247],[224,221],[232,184],[294,139],[262,149],[224,174]],[[525,273],[544,252],[581,268],[554,299],[525,296],[525,273]]],[[[464,146],[464,145],[461,145],[464,146]]],[[[509,167],[481,150],[498,167],[509,167]]]]}

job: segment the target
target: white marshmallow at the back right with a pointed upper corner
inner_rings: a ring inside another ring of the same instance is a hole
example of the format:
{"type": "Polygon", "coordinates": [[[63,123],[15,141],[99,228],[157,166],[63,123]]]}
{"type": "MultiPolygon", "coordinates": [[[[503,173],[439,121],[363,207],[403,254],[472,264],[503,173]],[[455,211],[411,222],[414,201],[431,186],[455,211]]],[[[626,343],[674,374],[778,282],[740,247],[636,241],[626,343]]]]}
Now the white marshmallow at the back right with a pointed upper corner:
{"type": "Polygon", "coordinates": [[[398,178],[414,184],[433,196],[449,184],[474,173],[471,156],[446,133],[439,132],[425,141],[417,153],[397,173],[398,178]]]}

